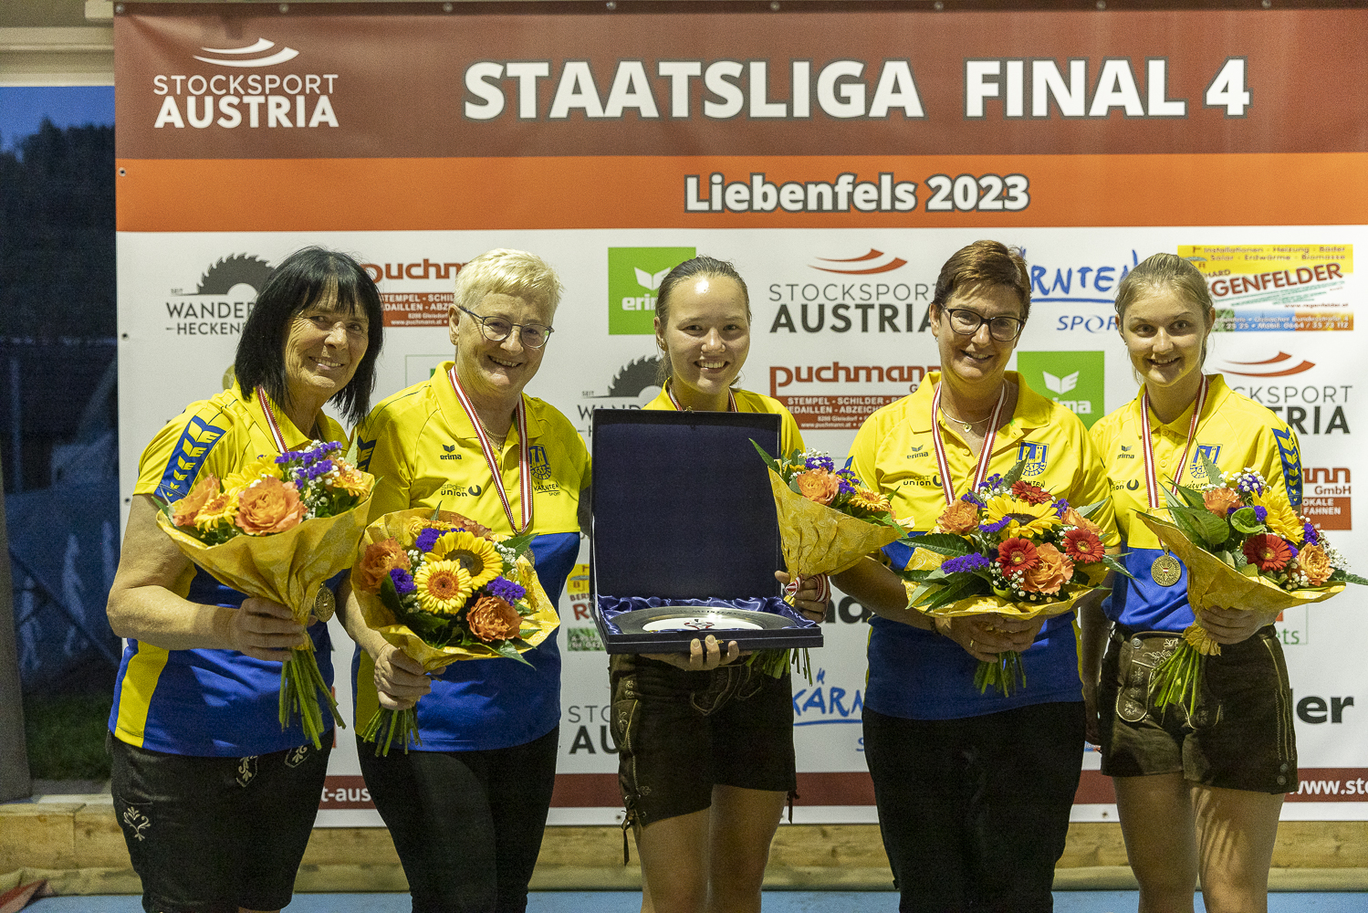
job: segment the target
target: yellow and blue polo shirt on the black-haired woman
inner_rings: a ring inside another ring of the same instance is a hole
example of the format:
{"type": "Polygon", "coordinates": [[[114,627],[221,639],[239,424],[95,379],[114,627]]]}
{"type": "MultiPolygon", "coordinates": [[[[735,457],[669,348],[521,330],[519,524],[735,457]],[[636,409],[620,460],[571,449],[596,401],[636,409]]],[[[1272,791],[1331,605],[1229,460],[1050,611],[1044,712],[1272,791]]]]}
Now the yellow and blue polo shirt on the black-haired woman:
{"type": "MultiPolygon", "coordinates": [[[[272,404],[274,405],[274,404],[272,404]]],[[[275,407],[286,446],[302,448],[309,437],[275,407]]],[[[346,433],[320,416],[328,441],[346,433]]],[[[275,439],[257,397],[246,400],[234,385],[208,400],[192,402],[142,452],[134,494],[179,501],[198,478],[220,479],[259,456],[275,454],[275,439]]],[[[242,605],[246,598],[196,565],[170,587],[202,605],[242,605]]],[[[309,627],[323,679],[332,683],[332,643],[327,624],[309,627]]],[[[109,730],[115,738],[142,749],[200,757],[246,757],[298,747],[308,742],[298,721],[280,730],[280,664],[254,660],[237,650],[167,650],[129,641],[114,687],[109,730]]],[[[323,705],[324,725],[331,723],[323,705]]]]}

